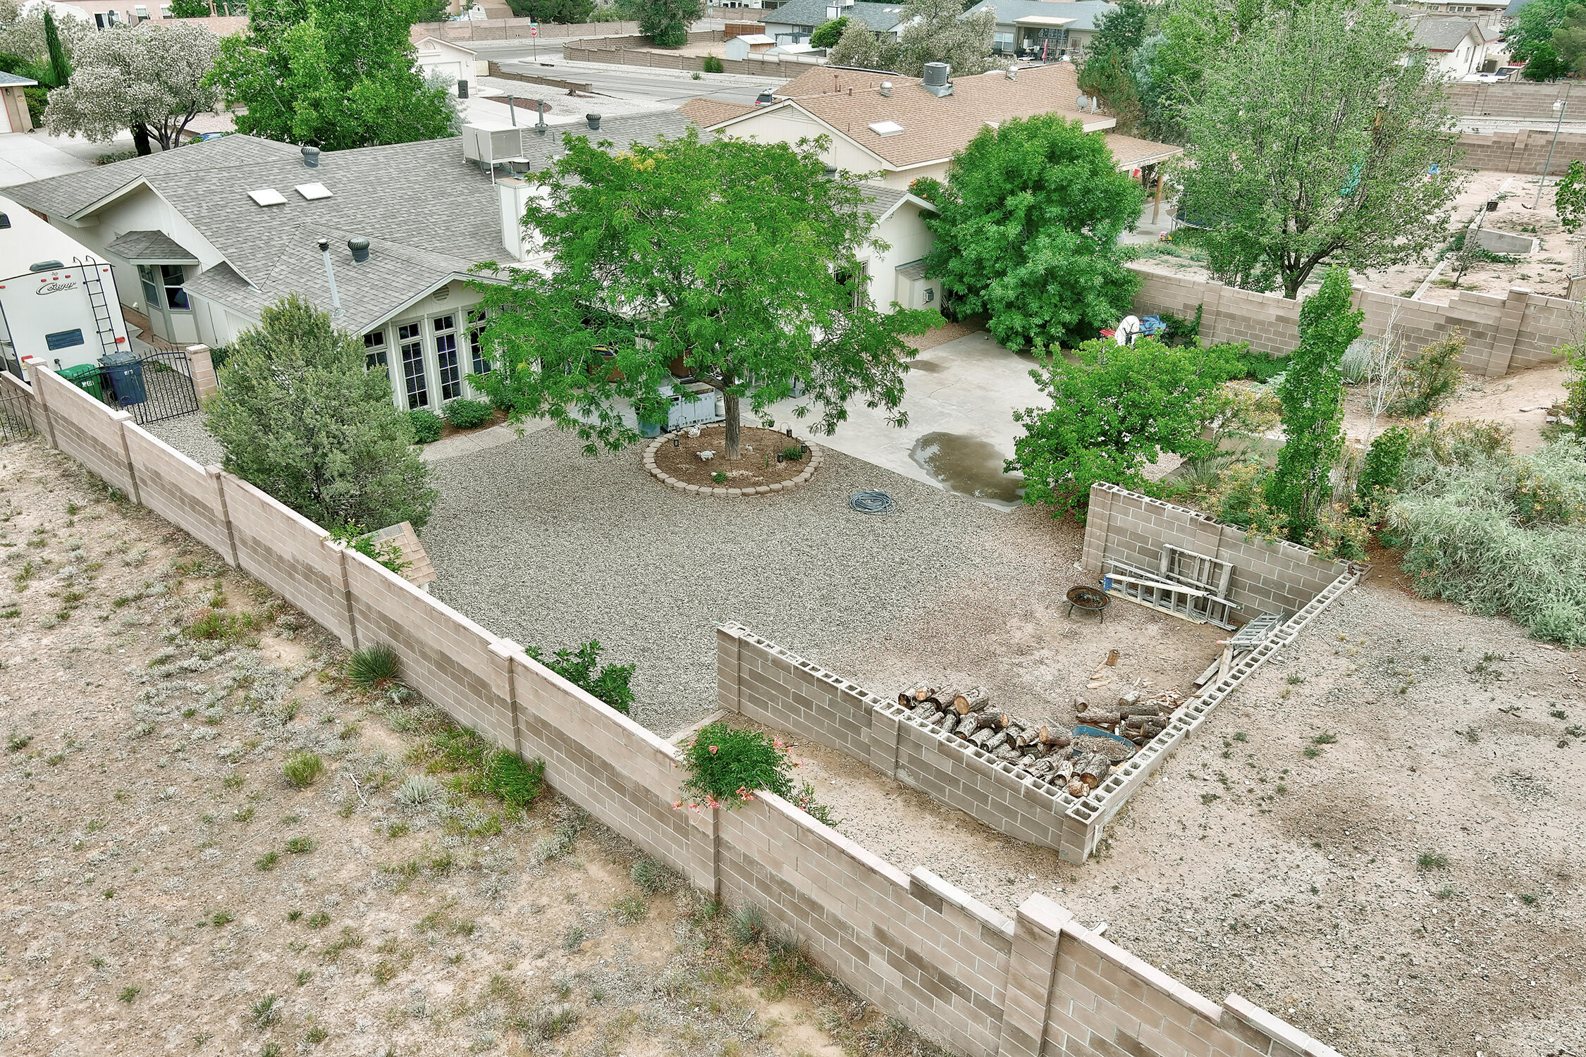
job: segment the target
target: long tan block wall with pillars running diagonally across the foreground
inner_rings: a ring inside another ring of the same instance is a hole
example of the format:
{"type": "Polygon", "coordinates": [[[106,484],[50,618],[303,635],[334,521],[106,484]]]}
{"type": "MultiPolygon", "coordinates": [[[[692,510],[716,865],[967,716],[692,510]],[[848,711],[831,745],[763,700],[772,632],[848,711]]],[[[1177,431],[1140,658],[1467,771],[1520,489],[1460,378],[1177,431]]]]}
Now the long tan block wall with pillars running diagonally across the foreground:
{"type": "MultiPolygon", "coordinates": [[[[8,387],[8,388],[6,388],[8,387]]],[[[198,466],[44,371],[0,372],[35,426],[135,502],[209,544],[463,723],[546,761],[546,778],[696,889],[761,906],[866,1000],[972,1057],[1335,1057],[1237,995],[1213,1003],[1032,895],[1007,919],[904,873],[774,796],[676,810],[677,750],[324,529],[198,466]]],[[[638,472],[638,469],[636,469],[638,472]]]]}

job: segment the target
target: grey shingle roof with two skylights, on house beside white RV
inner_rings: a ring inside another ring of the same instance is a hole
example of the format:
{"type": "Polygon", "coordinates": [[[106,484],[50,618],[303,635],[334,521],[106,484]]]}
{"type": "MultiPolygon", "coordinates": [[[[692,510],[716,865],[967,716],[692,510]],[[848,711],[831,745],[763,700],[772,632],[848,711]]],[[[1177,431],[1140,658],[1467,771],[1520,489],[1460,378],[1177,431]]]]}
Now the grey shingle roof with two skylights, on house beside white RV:
{"type": "MultiPolygon", "coordinates": [[[[541,170],[565,152],[565,133],[626,146],[687,130],[682,114],[661,111],[615,116],[600,132],[584,122],[552,125],[544,136],[525,127],[519,141],[520,154],[541,170]]],[[[225,257],[189,287],[254,315],[290,292],[328,307],[319,252],[319,239],[327,238],[341,325],[349,330],[400,309],[447,276],[506,257],[496,190],[488,173],[463,160],[460,138],[327,151],[319,160],[311,170],[292,144],[236,135],[8,193],[41,212],[70,216],[146,179],[225,257]],[[305,184],[324,184],[330,197],[305,198],[295,190],[305,184]],[[260,189],[274,189],[285,203],[255,204],[247,192],[260,189]],[[358,265],[346,244],[355,236],[370,239],[370,260],[358,265]]]]}

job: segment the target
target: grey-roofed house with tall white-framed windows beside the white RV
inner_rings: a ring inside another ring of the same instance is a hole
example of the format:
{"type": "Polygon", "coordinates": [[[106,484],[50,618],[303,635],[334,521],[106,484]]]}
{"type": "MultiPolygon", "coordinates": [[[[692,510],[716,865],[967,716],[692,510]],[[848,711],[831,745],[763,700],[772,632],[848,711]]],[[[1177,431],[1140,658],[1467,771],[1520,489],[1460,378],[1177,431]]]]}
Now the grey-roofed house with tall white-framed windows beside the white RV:
{"type": "MultiPolygon", "coordinates": [[[[607,119],[598,136],[653,143],[687,127],[674,111],[633,114],[607,119]]],[[[592,135],[585,125],[468,132],[492,144],[490,160],[534,171],[561,152],[561,133],[592,135]]],[[[6,193],[114,266],[125,315],[146,320],[151,344],[227,345],[295,292],[363,336],[398,407],[438,409],[473,395],[466,376],[485,366],[469,269],[534,265],[519,223],[527,184],[466,160],[476,143],[333,151],[309,168],[295,146],[233,135],[6,193]]]]}

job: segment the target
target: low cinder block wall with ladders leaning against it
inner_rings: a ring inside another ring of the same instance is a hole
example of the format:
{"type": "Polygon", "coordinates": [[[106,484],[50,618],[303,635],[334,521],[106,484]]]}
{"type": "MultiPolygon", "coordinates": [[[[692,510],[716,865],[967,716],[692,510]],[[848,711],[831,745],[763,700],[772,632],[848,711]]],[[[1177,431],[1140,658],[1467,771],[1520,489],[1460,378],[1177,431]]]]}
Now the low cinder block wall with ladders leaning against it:
{"type": "Polygon", "coordinates": [[[1109,559],[1156,569],[1164,544],[1232,563],[1228,594],[1243,607],[1234,615],[1237,623],[1259,613],[1297,613],[1348,569],[1347,561],[1324,561],[1307,547],[1245,539],[1243,529],[1199,510],[1117,485],[1091,485],[1080,558],[1086,570],[1101,575],[1109,559]]]}

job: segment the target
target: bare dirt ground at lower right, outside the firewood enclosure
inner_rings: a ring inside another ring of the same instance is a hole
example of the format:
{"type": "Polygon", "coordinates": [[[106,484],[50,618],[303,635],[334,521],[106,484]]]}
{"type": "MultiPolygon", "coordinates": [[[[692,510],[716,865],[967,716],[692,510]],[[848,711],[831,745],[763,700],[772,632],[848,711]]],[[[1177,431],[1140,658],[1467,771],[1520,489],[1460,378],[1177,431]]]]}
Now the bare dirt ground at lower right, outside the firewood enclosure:
{"type": "Polygon", "coordinates": [[[1045,892],[1342,1054],[1586,1041],[1586,656],[1413,597],[1391,569],[1223,704],[1083,867],[795,751],[883,859],[1004,913],[1045,892]]]}

